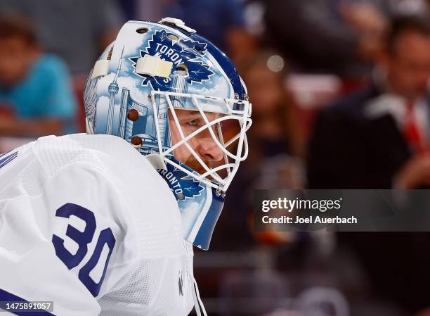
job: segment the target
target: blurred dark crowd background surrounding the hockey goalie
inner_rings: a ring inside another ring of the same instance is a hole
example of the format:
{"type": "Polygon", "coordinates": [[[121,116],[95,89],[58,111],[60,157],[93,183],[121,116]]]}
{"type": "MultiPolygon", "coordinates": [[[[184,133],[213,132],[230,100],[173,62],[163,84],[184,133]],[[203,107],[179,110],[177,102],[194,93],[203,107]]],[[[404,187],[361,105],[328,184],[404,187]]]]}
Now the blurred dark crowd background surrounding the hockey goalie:
{"type": "Polygon", "coordinates": [[[0,152],[84,132],[126,20],[181,18],[247,82],[250,154],[195,277],[212,316],[429,316],[429,233],[256,233],[254,189],[430,187],[430,1],[0,0],[0,152]]]}

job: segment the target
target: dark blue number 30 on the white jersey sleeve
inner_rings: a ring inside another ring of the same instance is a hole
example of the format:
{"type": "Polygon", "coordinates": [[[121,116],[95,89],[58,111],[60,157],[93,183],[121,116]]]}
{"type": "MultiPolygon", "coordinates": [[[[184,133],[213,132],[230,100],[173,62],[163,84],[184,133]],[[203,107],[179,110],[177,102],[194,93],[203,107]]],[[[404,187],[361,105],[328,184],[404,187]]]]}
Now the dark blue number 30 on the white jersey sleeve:
{"type": "MultiPolygon", "coordinates": [[[[87,210],[82,206],[76,204],[67,203],[60,208],[58,208],[56,216],[70,218],[70,215],[79,217],[85,222],[84,232],[80,232],[78,229],[68,225],[66,236],[70,237],[74,242],[79,245],[78,251],[75,254],[70,253],[64,246],[64,239],[58,237],[56,234],[52,236],[52,243],[54,248],[56,248],[56,255],[70,270],[76,267],[84,259],[86,253],[88,252],[88,244],[93,241],[94,233],[96,232],[96,217],[94,217],[91,210],[87,210]]],[[[84,267],[79,270],[79,280],[82,284],[86,286],[93,296],[98,296],[100,292],[100,287],[105,279],[107,263],[109,263],[110,255],[112,255],[113,248],[115,246],[115,237],[112,234],[110,228],[103,229],[98,236],[96,248],[94,248],[93,255],[84,265],[84,267]],[[96,267],[100,255],[103,251],[103,247],[107,245],[109,248],[109,254],[107,255],[105,267],[103,268],[103,274],[98,283],[94,282],[90,277],[90,272],[96,267]]]]}

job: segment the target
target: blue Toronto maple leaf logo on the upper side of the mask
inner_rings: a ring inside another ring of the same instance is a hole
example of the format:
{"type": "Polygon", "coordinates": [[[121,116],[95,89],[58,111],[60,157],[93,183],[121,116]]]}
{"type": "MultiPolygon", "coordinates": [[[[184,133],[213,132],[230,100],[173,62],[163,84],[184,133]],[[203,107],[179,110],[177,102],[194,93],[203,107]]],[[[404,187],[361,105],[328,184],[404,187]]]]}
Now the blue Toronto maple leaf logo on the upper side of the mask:
{"type": "MultiPolygon", "coordinates": [[[[204,80],[209,80],[209,77],[214,74],[210,70],[209,65],[204,61],[204,54],[207,51],[207,44],[193,41],[192,39],[174,39],[169,37],[166,30],[157,30],[152,33],[151,39],[148,41],[148,46],[140,51],[140,56],[131,57],[133,67],[136,69],[138,58],[145,55],[158,55],[164,61],[174,63],[173,69],[178,65],[185,65],[188,68],[188,75],[185,80],[190,84],[192,82],[202,83],[204,80]]],[[[136,72],[135,72],[136,74],[136,72]]],[[[152,77],[150,75],[140,75],[143,78],[142,85],[150,84],[152,89],[167,91],[170,89],[170,78],[152,77]]]]}

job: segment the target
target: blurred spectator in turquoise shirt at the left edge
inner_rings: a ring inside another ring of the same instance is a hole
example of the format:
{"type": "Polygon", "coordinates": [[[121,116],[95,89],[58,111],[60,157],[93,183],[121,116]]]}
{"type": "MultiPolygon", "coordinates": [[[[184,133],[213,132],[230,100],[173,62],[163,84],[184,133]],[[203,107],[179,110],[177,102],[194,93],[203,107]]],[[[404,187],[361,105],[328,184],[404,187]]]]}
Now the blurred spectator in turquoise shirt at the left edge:
{"type": "Polygon", "coordinates": [[[75,108],[63,61],[41,52],[27,20],[0,18],[0,135],[72,132],[75,108]]]}

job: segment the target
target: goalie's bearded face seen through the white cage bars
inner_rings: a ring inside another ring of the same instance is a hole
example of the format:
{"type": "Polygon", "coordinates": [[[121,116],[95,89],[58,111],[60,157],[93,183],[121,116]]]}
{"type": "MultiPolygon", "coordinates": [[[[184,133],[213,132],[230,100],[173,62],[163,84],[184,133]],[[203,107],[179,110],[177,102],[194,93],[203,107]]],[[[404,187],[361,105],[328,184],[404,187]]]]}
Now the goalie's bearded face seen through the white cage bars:
{"type": "MultiPolygon", "coordinates": [[[[189,134],[195,132],[195,130],[202,127],[205,122],[202,118],[202,115],[196,110],[176,110],[176,116],[178,117],[178,122],[181,125],[183,134],[187,137],[189,134]]],[[[219,118],[221,114],[219,113],[205,113],[209,122],[216,120],[219,118]]],[[[178,128],[174,122],[174,118],[169,112],[169,126],[170,126],[170,134],[172,146],[177,144],[182,140],[181,134],[179,134],[178,128]]],[[[214,134],[217,135],[217,132],[214,128],[214,125],[211,127],[214,130],[214,134]]],[[[211,168],[211,165],[216,163],[216,161],[220,161],[223,159],[223,152],[221,148],[216,145],[214,139],[211,137],[209,129],[204,129],[204,131],[197,134],[195,137],[191,138],[188,141],[188,144],[193,148],[193,150],[200,156],[206,165],[211,168]]],[[[197,159],[193,156],[193,154],[188,150],[185,144],[179,146],[174,150],[174,156],[176,159],[181,161],[181,163],[185,163],[191,169],[203,174],[206,172],[202,165],[197,161],[197,159]]]]}

